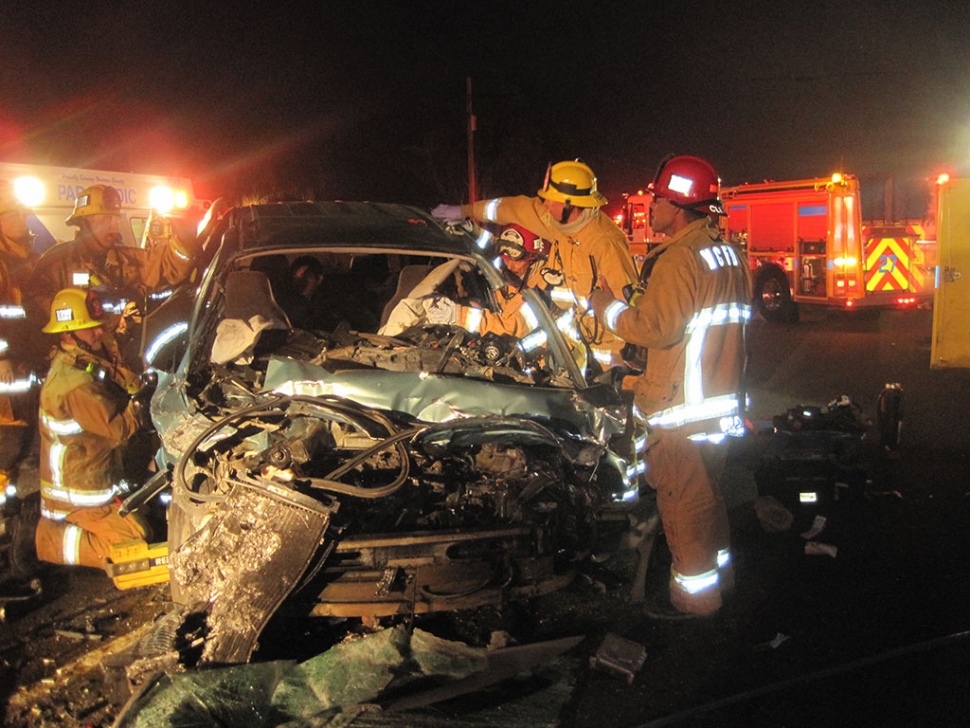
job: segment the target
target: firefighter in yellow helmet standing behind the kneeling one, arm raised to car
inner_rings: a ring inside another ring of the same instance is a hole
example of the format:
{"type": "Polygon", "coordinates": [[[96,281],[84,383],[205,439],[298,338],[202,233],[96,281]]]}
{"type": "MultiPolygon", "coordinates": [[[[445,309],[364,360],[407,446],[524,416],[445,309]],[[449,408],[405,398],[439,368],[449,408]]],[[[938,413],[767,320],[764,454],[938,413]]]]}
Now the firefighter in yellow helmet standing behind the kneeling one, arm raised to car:
{"type": "Polygon", "coordinates": [[[104,321],[105,346],[116,356],[124,350],[126,365],[139,369],[136,330],[146,297],[185,280],[194,251],[174,233],[156,240],[150,250],[122,245],[121,193],[109,185],[82,190],[66,222],[77,226],[77,236],[38,261],[25,299],[28,319],[39,328],[58,291],[96,288],[112,314],[104,321]]]}

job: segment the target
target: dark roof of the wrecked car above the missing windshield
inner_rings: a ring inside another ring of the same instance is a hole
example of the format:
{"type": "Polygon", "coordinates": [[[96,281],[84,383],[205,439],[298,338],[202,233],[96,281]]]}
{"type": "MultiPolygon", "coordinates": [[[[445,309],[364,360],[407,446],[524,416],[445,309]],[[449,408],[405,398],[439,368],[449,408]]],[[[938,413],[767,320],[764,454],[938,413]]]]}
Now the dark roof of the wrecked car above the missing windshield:
{"type": "Polygon", "coordinates": [[[383,202],[274,202],[227,213],[239,252],[280,245],[363,246],[466,253],[468,234],[450,232],[428,212],[383,202]]]}

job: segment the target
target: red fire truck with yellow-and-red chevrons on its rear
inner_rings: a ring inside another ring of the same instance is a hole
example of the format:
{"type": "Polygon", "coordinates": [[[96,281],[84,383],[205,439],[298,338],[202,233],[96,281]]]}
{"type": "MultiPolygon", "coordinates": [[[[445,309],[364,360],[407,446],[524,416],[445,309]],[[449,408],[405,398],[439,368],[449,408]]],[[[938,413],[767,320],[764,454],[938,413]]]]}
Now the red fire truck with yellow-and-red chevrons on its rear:
{"type": "Polygon", "coordinates": [[[914,182],[867,181],[864,192],[834,174],[722,188],[724,233],[748,254],[762,316],[794,321],[801,304],[931,304],[936,187],[914,182]]]}

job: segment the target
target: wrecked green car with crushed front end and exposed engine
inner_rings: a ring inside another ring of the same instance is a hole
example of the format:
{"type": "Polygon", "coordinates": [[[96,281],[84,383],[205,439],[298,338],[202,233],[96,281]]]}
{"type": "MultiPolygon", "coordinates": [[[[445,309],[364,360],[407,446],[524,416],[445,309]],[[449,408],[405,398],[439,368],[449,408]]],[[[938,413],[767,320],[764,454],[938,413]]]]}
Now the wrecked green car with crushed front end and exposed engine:
{"type": "Polygon", "coordinates": [[[171,593],[204,616],[199,664],[248,661],[284,602],[377,623],[527,601],[628,525],[626,410],[585,381],[558,312],[525,291],[539,328],[514,339],[414,305],[497,310],[477,232],[350,202],[209,223],[181,348],[152,362],[171,593]],[[322,283],[301,301],[307,257],[322,283]]]}

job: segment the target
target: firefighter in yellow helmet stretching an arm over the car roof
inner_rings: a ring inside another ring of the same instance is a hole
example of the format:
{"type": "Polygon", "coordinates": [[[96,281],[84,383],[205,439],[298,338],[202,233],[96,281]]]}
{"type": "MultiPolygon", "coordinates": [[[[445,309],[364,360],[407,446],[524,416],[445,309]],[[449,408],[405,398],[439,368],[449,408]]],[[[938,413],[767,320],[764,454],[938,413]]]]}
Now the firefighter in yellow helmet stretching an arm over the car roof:
{"type": "Polygon", "coordinates": [[[550,165],[535,197],[519,195],[470,205],[438,205],[431,214],[446,222],[466,217],[506,225],[516,223],[553,246],[540,280],[530,286],[550,290],[554,303],[575,312],[579,336],[599,368],[622,363],[623,342],[600,326],[589,309],[589,295],[599,277],[616,291],[632,290],[636,269],[626,235],[601,208],[607,202],[596,187],[593,170],[579,160],[550,165]]]}

